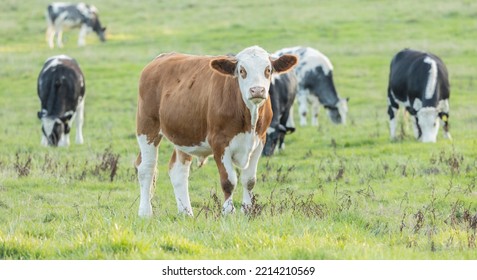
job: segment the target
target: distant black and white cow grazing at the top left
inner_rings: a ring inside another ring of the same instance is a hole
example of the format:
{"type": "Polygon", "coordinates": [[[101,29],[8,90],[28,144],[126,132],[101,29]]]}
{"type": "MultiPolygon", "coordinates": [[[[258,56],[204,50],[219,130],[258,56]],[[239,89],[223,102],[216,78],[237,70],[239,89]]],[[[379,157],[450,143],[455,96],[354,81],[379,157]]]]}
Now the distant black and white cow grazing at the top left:
{"type": "Polygon", "coordinates": [[[104,42],[106,38],[104,32],[106,27],[102,27],[99,22],[98,9],[85,3],[52,3],[48,5],[46,11],[46,39],[50,48],[54,48],[54,38],[59,48],[63,47],[63,28],[80,28],[78,46],[86,44],[86,34],[90,31],[96,32],[99,39],[104,42]]]}

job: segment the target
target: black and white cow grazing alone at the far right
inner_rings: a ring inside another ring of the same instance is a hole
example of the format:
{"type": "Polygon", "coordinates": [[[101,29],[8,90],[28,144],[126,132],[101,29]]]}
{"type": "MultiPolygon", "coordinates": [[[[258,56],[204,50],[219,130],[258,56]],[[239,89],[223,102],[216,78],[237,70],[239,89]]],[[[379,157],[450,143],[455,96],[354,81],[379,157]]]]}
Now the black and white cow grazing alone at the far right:
{"type": "Polygon", "coordinates": [[[434,54],[404,49],[391,61],[388,85],[388,114],[391,138],[396,138],[399,105],[412,116],[414,134],[422,142],[436,142],[438,119],[444,137],[449,133],[450,86],[444,62],[434,54]]]}

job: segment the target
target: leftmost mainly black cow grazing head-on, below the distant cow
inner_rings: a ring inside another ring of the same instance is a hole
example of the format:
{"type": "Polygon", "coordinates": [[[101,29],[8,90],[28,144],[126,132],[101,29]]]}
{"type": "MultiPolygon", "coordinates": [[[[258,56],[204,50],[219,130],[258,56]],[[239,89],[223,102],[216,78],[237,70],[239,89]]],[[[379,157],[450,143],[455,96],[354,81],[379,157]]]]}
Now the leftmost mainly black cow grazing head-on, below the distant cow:
{"type": "Polygon", "coordinates": [[[46,60],[38,76],[44,146],[68,146],[70,121],[76,119],[76,143],[83,144],[85,81],[78,63],[66,55],[46,60]]]}

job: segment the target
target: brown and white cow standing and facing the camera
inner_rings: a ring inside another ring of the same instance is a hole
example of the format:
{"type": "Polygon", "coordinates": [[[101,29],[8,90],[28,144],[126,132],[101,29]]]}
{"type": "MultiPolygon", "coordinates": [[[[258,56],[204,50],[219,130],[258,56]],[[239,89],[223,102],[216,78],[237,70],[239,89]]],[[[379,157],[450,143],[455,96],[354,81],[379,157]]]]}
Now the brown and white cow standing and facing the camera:
{"type": "Polygon", "coordinates": [[[188,177],[192,156],[213,155],[225,197],[222,212],[234,211],[235,167],[242,169],[242,211],[252,203],[257,163],[272,119],[268,90],[272,72],[285,72],[297,58],[271,59],[260,47],[235,57],[162,54],[139,81],[136,160],[139,216],[151,216],[157,148],[162,137],[174,145],[169,176],[180,213],[193,215],[188,177]]]}

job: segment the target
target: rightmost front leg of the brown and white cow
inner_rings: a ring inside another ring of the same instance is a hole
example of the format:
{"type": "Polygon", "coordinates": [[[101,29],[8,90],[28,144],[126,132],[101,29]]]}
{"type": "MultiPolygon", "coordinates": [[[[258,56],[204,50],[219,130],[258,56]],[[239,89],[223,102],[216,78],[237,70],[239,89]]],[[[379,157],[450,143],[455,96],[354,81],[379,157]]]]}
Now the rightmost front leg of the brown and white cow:
{"type": "Polygon", "coordinates": [[[242,212],[247,213],[252,207],[252,189],[257,181],[258,160],[262,154],[263,143],[260,142],[250,156],[250,162],[240,174],[240,180],[243,186],[242,212]]]}

